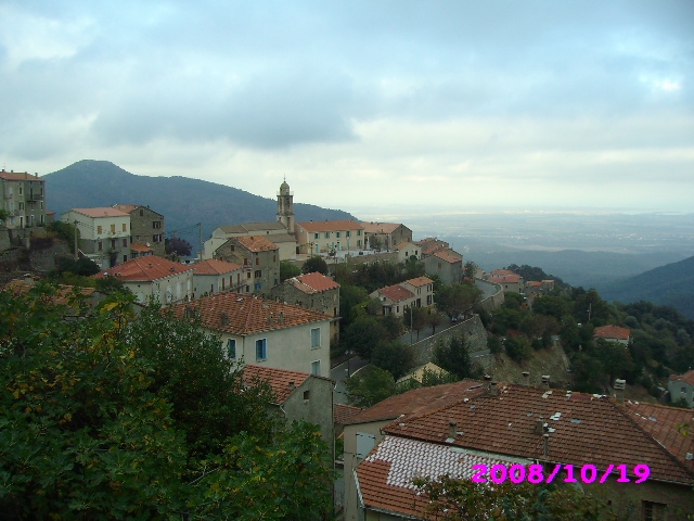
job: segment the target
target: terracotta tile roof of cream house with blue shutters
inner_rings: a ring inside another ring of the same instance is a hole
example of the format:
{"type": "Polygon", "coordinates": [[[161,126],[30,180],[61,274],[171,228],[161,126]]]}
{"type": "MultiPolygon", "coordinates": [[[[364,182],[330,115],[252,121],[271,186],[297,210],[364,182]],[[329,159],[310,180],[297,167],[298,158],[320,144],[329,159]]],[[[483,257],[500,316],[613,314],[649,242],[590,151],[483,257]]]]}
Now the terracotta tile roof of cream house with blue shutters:
{"type": "Polygon", "coordinates": [[[172,306],[174,315],[178,318],[183,318],[187,309],[198,313],[205,328],[239,335],[286,329],[331,318],[312,309],[233,292],[203,296],[191,303],[172,306]]]}

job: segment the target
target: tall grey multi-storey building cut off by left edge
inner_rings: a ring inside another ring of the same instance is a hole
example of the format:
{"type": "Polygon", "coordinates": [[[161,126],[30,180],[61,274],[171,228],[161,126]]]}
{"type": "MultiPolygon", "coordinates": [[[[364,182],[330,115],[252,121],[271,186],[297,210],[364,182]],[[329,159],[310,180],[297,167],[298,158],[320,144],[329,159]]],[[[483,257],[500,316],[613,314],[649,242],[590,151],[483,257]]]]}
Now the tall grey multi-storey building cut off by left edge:
{"type": "Polygon", "coordinates": [[[9,229],[33,228],[46,224],[46,181],[38,174],[0,171],[2,208],[10,215],[9,229]]]}

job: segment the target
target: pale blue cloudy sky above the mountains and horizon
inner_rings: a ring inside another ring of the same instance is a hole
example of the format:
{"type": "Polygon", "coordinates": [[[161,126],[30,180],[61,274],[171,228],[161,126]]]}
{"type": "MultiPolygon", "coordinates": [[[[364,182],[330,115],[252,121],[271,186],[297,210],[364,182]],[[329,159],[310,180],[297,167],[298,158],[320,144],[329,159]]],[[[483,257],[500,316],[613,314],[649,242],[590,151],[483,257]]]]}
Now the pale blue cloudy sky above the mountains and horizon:
{"type": "Polygon", "coordinates": [[[694,212],[694,2],[0,1],[0,162],[295,201],[694,212]]]}

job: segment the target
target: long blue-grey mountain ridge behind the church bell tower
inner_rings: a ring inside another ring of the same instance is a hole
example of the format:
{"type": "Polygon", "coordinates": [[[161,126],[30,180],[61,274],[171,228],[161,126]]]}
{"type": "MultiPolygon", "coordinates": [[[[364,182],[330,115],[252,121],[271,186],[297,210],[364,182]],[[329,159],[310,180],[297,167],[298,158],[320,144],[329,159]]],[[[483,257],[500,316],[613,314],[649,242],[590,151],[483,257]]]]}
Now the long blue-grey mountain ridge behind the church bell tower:
{"type": "MultiPolygon", "coordinates": [[[[107,161],[83,160],[43,178],[48,208],[56,218],[70,208],[144,204],[166,217],[168,236],[177,231],[194,246],[197,223],[206,240],[218,226],[277,219],[277,200],[188,177],[137,176],[107,161]]],[[[356,219],[347,212],[312,204],[297,203],[294,212],[297,223],[356,219]]]]}

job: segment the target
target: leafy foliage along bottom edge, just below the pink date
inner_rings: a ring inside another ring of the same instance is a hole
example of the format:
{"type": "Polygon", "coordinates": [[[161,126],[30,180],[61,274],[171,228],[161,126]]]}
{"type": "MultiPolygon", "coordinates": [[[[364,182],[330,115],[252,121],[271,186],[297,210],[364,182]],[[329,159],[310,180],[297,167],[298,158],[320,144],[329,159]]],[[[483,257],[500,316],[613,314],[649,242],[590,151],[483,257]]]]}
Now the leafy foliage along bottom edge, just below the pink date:
{"type": "MultiPolygon", "coordinates": [[[[425,519],[436,521],[603,521],[617,520],[611,508],[570,485],[515,484],[489,486],[441,475],[419,478],[414,485],[425,519]],[[420,499],[421,498],[421,499],[420,499]]],[[[419,501],[417,501],[419,503],[419,501]]]]}

